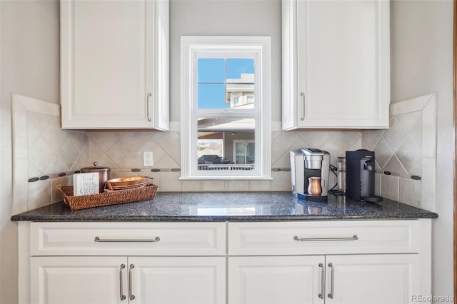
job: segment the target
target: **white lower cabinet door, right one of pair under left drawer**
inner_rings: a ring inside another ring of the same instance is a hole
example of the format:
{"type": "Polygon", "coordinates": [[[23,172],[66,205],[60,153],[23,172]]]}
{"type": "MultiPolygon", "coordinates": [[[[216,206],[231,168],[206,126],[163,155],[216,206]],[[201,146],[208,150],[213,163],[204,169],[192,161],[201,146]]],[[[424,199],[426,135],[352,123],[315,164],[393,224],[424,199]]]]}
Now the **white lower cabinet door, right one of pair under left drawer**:
{"type": "Polygon", "coordinates": [[[223,304],[225,257],[129,258],[135,303],[223,304]]]}

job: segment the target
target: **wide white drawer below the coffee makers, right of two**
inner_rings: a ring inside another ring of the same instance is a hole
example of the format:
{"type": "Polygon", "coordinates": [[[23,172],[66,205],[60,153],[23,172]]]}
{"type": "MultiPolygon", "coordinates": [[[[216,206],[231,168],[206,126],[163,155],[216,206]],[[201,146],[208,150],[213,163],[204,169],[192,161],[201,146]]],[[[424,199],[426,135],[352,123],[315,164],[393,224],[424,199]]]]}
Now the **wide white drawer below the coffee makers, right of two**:
{"type": "Polygon", "coordinates": [[[419,221],[229,223],[229,255],[418,253],[419,221]]]}

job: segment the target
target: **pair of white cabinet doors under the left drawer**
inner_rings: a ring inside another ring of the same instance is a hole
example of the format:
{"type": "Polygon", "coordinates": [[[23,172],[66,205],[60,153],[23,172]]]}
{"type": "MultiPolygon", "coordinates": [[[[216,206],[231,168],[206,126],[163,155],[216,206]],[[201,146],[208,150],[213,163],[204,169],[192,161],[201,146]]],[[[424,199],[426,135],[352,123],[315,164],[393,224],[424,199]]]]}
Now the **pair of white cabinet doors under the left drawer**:
{"type": "Polygon", "coordinates": [[[224,257],[33,257],[31,303],[225,303],[224,257]]]}

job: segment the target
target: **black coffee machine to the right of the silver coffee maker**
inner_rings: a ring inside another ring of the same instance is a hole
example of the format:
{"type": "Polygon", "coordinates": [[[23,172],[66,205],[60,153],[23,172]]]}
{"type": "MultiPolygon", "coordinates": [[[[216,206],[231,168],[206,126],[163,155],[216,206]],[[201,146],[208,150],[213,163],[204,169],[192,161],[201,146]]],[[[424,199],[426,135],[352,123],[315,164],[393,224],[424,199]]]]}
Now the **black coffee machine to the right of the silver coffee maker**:
{"type": "Polygon", "coordinates": [[[374,152],[346,151],[346,197],[371,203],[383,200],[374,194],[374,152]]]}

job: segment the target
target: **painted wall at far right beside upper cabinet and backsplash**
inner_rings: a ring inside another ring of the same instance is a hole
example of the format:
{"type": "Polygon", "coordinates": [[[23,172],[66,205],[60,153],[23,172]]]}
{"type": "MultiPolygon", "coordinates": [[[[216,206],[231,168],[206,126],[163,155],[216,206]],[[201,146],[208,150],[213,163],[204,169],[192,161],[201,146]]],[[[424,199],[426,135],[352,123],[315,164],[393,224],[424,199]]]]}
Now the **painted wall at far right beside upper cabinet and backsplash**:
{"type": "Polygon", "coordinates": [[[391,98],[437,92],[433,295],[453,295],[453,1],[391,1],[391,98]]]}

